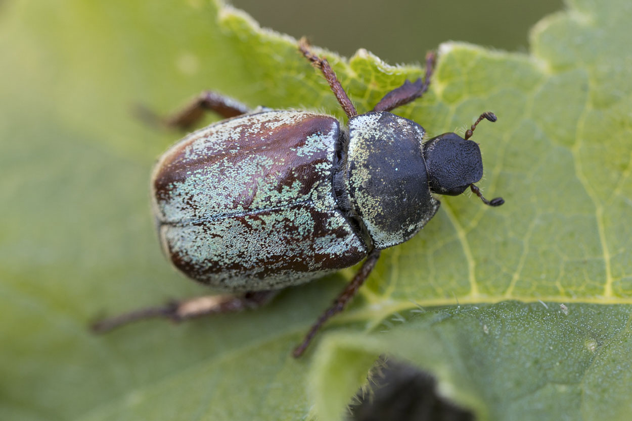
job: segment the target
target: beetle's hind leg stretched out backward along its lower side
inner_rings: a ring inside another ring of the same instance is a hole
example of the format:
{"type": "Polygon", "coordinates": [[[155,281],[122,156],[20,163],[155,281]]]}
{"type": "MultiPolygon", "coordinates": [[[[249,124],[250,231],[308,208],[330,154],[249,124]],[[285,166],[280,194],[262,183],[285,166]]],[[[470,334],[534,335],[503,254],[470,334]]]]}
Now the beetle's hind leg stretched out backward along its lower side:
{"type": "Polygon", "coordinates": [[[148,307],[92,324],[92,331],[104,333],[133,321],[162,317],[183,321],[207,314],[221,314],[255,309],[269,302],[278,291],[246,292],[244,295],[205,295],[189,300],[174,301],[162,307],[148,307]]]}

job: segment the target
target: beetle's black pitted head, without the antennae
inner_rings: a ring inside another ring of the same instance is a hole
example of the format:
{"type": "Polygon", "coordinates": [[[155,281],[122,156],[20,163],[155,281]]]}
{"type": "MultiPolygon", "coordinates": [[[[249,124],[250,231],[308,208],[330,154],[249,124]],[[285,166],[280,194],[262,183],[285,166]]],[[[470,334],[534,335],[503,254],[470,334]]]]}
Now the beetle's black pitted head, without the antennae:
{"type": "Polygon", "coordinates": [[[457,196],[483,177],[478,144],[456,133],[444,133],[423,144],[430,191],[457,196]]]}

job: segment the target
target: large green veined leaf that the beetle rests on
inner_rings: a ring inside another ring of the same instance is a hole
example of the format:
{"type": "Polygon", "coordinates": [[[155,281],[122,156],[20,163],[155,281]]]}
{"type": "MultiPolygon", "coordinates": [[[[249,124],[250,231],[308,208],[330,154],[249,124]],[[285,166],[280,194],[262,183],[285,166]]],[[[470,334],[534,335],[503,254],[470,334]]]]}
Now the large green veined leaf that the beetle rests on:
{"type": "MultiPolygon", "coordinates": [[[[475,139],[480,185],[506,204],[441,198],[300,360],[290,350],[353,269],[256,312],[87,331],[99,314],[205,292],[162,258],[147,205],[178,134],[131,106],[166,113],[212,88],[343,117],[295,41],[200,0],[0,6],[0,418],[332,420],[385,352],[478,419],[626,418],[628,1],[570,2],[534,28],[529,55],[441,46],[430,92],[398,114],[434,136],[496,112],[475,139]]],[[[317,52],[361,112],[423,74],[317,52]]]]}

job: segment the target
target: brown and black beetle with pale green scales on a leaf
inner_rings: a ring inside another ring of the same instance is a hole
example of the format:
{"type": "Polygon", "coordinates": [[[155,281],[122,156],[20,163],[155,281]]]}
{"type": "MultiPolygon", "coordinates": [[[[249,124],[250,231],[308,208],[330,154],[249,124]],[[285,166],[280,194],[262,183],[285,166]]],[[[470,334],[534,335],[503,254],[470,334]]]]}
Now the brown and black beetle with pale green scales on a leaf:
{"type": "Polygon", "coordinates": [[[147,317],[181,321],[241,311],[279,290],[320,278],[364,259],[360,270],[313,324],[293,355],[301,355],[322,324],[344,309],[379,259],[380,251],[411,239],[435,215],[434,194],[456,196],[468,187],[490,206],[475,182],[483,175],[478,144],[425,130],[391,110],[422,97],[425,78],[387,93],[358,114],[326,59],[307,40],[300,52],[320,69],[348,119],[302,110],[249,110],[204,92],[167,119],[190,127],[213,110],[224,121],[195,131],[162,155],[152,174],[152,208],[162,249],[179,271],[227,295],[150,307],[93,325],[107,331],[147,317]]]}

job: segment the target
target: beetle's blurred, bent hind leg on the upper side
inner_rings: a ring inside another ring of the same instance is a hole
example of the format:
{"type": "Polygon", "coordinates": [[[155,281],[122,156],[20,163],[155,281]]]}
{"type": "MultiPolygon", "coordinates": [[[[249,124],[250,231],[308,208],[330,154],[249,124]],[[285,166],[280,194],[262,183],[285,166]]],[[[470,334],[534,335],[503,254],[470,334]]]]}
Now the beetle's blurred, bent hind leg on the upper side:
{"type": "Polygon", "coordinates": [[[220,95],[213,91],[204,91],[191,100],[183,109],[167,118],[157,116],[152,110],[143,106],[137,107],[137,115],[152,126],[168,126],[178,129],[188,129],[204,117],[205,111],[214,111],[219,116],[229,117],[247,114],[250,109],[233,98],[220,95]]]}

